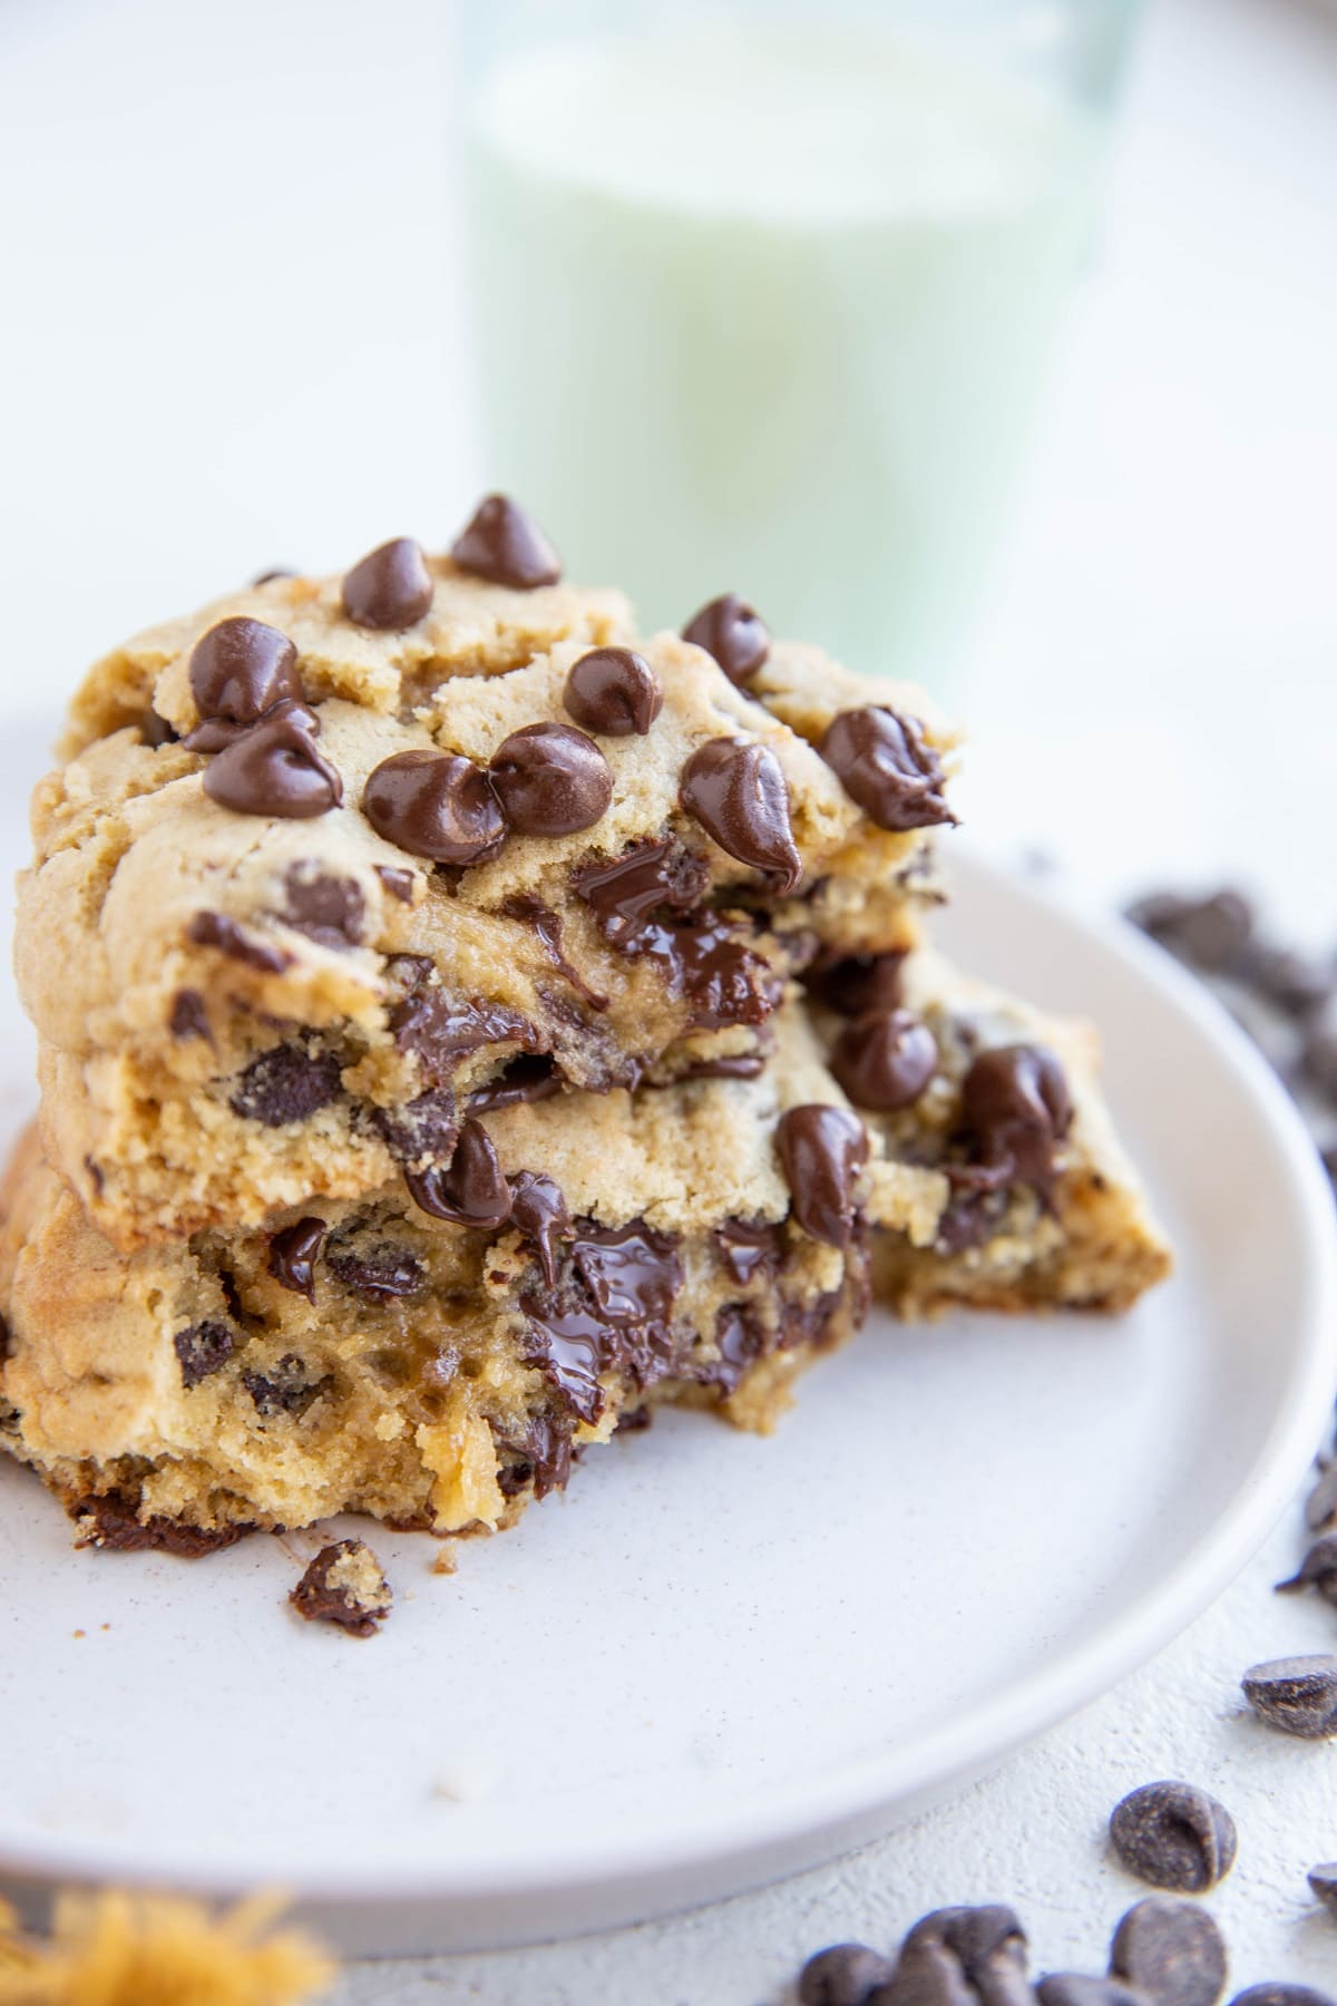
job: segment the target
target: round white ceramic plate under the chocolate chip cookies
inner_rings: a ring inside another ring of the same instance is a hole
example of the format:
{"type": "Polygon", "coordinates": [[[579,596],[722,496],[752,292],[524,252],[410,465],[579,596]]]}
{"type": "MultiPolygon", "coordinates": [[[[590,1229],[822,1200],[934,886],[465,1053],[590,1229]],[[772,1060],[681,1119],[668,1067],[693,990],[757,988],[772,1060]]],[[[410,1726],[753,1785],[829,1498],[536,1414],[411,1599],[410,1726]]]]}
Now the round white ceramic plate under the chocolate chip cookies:
{"type": "Polygon", "coordinates": [[[874,1318],[776,1438],[667,1416],[455,1579],[375,1533],[399,1605],[371,1643],[285,1609],[309,1537],[74,1553],[4,1464],[0,1880],[281,1882],[353,1950],[611,1926],[888,1827],[1203,1609],[1331,1410],[1327,1188],[1161,955],[956,877],[944,945],[1104,1027],[1173,1284],[1112,1324],[874,1318]]]}

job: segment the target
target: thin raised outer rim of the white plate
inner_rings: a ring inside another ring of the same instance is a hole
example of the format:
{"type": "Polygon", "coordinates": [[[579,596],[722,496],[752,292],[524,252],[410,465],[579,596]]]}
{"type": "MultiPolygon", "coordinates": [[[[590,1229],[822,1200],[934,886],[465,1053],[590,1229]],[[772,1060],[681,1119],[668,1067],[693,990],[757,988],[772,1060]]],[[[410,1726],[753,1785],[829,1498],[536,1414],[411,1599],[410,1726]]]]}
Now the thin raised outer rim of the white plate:
{"type": "MultiPolygon", "coordinates": [[[[1285,1202],[1295,1212],[1299,1242],[1307,1254],[1297,1312],[1297,1364],[1239,1492],[1179,1565],[1131,1607],[1096,1621],[1086,1637],[1058,1649],[1052,1663],[1014,1677],[996,1699],[970,1707],[962,1719],[944,1721],[912,1743],[846,1759],[820,1777],[750,1789],[742,1805],[722,1809],[716,1803],[706,1811],[698,1805],[686,1815],[674,1813],[653,1833],[623,1833],[617,1842],[605,1831],[589,1842],[577,1837],[575,1844],[553,1848],[545,1860],[511,1866],[491,1860],[477,1866],[459,1858],[425,1860],[411,1872],[405,1872],[403,1862],[363,1860],[337,1872],[323,1866],[313,1874],[299,1870],[285,1876],[285,1884],[301,1902],[363,1910],[387,1902],[431,1902],[437,1908],[469,1902],[519,1906],[575,1896],[607,1898],[615,1890],[625,1894],[639,1888],[645,1914],[651,1916],[684,1906],[692,1896],[655,1898],[649,1880],[665,1884],[728,1866],[730,1882],[718,1890],[724,1898],[832,1858],[842,1844],[838,1837],[832,1844],[832,1835],[890,1829],[906,1805],[926,1803],[996,1765],[1145,1665],[1229,1587],[1295,1500],[1331,1414],[1337,1382],[1337,1216],[1299,1109],[1223,1005],[1127,921],[1092,913],[1068,887],[1026,883],[968,847],[952,857],[950,869],[986,891],[1018,901],[1032,915],[1082,935],[1155,989],[1229,1063],[1255,1117],[1277,1143],[1277,1157],[1287,1174],[1285,1202]],[[806,1858],[796,1864],[800,1854],[806,1858]],[[784,1856],[790,1866],[776,1864],[784,1856]]],[[[237,1868],[174,1862],[170,1842],[154,1856],[134,1848],[134,1860],[126,1860],[114,1837],[70,1842],[52,1835],[34,1842],[30,1833],[6,1833],[2,1819],[0,1874],[38,1882],[166,1882],[227,1896],[255,1886],[255,1874],[247,1876],[237,1868]]],[[[573,1918],[573,1928],[599,1926],[603,1924],[597,1920],[581,1924],[573,1918]]],[[[511,1932],[507,1940],[517,1942],[521,1934],[511,1932]]]]}

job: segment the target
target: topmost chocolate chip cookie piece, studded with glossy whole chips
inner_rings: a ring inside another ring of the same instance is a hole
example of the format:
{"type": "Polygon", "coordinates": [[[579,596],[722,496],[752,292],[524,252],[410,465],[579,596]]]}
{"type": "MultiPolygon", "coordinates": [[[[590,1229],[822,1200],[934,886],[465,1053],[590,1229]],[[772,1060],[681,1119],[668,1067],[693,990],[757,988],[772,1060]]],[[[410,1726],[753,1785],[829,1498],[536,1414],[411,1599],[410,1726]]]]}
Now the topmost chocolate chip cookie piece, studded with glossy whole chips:
{"type": "Polygon", "coordinates": [[[756,1073],[814,953],[918,937],[926,700],[718,618],[635,640],[553,566],[493,510],[92,670],[16,961],[46,1153],[118,1248],[419,1190],[513,1101],[756,1073]]]}

